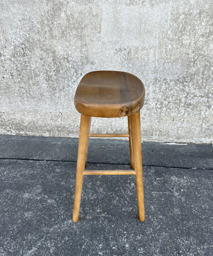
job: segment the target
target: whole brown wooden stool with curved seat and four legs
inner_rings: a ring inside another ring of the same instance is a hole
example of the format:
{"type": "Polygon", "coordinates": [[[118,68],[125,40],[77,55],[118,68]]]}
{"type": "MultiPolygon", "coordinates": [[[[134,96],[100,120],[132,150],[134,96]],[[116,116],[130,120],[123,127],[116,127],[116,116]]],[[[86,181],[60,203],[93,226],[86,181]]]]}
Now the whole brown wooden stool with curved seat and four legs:
{"type": "Polygon", "coordinates": [[[76,93],[75,107],[81,113],[78,159],[75,181],[73,221],[78,221],[83,175],[134,174],[139,220],[145,220],[140,134],[140,109],[145,89],[139,78],[119,71],[94,71],[83,76],[76,93]],[[90,134],[91,117],[128,117],[129,133],[90,134]],[[84,170],[89,137],[129,137],[132,170],[84,170]]]}

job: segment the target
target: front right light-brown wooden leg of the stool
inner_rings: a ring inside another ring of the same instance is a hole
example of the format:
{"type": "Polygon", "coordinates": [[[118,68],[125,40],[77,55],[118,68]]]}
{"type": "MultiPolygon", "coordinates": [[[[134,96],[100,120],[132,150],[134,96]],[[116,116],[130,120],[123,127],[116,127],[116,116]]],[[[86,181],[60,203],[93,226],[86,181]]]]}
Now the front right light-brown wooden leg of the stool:
{"type": "Polygon", "coordinates": [[[141,153],[141,134],[140,134],[140,111],[131,115],[132,143],[134,152],[136,190],[138,200],[139,221],[145,220],[144,212],[144,194],[143,194],[143,170],[142,170],[142,153],[141,153]]]}

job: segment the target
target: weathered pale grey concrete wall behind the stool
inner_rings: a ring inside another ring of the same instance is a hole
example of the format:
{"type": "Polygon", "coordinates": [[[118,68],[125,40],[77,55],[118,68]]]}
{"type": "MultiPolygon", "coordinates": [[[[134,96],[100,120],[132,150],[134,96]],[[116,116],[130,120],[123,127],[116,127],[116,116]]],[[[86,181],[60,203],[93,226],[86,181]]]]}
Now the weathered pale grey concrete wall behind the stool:
{"type": "MultiPolygon", "coordinates": [[[[0,0],[0,133],[78,136],[83,74],[146,88],[143,141],[213,143],[212,0],[0,0]]],[[[126,118],[94,119],[124,132],[126,118]]]]}

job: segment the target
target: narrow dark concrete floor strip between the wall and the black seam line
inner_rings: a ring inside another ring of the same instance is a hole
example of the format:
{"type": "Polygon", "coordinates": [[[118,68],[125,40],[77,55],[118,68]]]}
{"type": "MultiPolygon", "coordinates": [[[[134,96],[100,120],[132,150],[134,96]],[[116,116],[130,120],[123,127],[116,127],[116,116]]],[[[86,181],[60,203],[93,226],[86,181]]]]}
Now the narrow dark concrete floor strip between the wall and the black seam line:
{"type": "MultiPolygon", "coordinates": [[[[77,161],[78,139],[0,135],[2,159],[77,161]]],[[[142,143],[143,166],[213,168],[213,146],[142,143]]],[[[90,139],[88,162],[130,164],[129,142],[90,139]]]]}

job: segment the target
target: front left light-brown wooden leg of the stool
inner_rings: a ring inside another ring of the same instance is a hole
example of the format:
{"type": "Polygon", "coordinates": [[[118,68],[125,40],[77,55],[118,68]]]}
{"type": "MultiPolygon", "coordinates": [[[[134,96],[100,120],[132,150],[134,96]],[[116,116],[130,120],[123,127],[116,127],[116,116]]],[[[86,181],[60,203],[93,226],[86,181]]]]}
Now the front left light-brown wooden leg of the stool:
{"type": "Polygon", "coordinates": [[[83,171],[87,157],[89,134],[90,134],[91,116],[81,114],[80,118],[80,134],[78,143],[78,159],[75,180],[75,195],[73,206],[73,221],[78,221],[80,199],[83,184],[83,171]]]}

